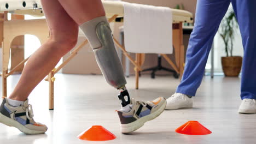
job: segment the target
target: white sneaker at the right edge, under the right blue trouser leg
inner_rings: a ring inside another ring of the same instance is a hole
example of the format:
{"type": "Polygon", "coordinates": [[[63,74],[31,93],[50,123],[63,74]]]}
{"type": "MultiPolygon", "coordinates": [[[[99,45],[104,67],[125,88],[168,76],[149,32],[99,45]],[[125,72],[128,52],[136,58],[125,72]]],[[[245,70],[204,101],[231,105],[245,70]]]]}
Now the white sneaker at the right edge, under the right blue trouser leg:
{"type": "Polygon", "coordinates": [[[247,113],[247,114],[256,113],[256,100],[243,99],[238,109],[238,113],[247,113]]]}

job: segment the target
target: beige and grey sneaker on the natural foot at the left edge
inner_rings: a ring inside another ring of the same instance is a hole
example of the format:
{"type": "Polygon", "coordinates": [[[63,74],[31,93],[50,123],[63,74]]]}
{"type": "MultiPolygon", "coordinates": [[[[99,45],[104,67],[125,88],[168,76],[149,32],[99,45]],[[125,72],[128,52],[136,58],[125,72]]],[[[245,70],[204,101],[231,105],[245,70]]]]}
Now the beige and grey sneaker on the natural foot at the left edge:
{"type": "Polygon", "coordinates": [[[32,106],[28,104],[28,100],[24,105],[13,107],[8,104],[7,98],[3,99],[0,106],[0,123],[18,128],[25,134],[45,133],[46,125],[34,122],[33,116],[32,106]]]}

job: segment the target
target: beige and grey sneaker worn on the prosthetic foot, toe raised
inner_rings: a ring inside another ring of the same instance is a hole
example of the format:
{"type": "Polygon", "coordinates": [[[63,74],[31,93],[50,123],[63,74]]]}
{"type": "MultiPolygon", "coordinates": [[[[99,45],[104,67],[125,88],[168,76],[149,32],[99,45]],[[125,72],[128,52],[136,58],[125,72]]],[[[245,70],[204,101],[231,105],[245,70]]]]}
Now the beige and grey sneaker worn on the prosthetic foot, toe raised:
{"type": "Polygon", "coordinates": [[[165,110],[165,106],[166,100],[162,97],[147,102],[131,99],[129,112],[118,111],[121,132],[123,134],[131,133],[141,128],[147,121],[158,117],[165,110]]]}

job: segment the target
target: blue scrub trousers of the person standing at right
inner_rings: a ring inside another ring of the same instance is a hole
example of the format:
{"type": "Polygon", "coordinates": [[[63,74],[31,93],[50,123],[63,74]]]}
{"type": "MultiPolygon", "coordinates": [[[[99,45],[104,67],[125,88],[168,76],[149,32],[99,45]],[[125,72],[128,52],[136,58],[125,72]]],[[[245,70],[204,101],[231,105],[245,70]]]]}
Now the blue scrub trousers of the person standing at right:
{"type": "Polygon", "coordinates": [[[190,35],[184,74],[177,93],[195,96],[214,35],[232,3],[242,35],[241,98],[256,99],[256,0],[197,0],[195,26],[190,35]]]}

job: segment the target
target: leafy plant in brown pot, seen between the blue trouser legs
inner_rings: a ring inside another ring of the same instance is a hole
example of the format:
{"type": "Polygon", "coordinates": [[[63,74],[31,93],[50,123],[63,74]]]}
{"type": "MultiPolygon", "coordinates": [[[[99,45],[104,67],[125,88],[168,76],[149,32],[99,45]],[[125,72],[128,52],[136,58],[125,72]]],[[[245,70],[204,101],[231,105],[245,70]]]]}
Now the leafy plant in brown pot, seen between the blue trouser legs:
{"type": "Polygon", "coordinates": [[[233,56],[234,34],[238,28],[234,10],[229,10],[220,24],[219,34],[224,41],[226,56],[222,57],[225,76],[238,76],[242,67],[242,57],[233,56]]]}

